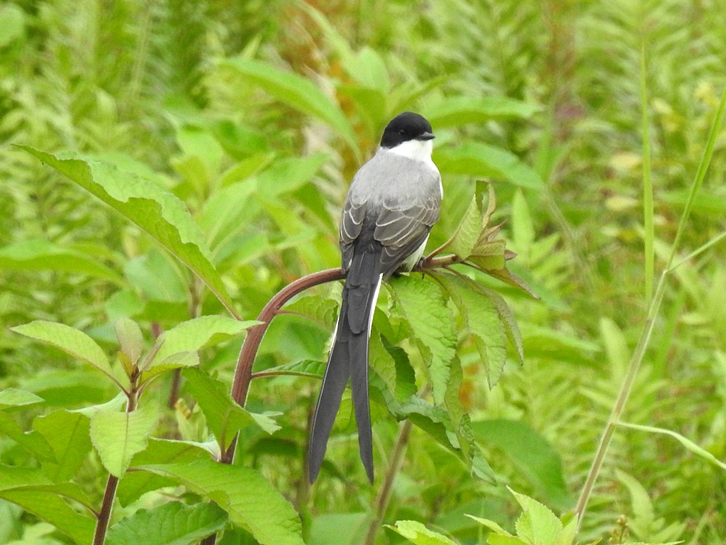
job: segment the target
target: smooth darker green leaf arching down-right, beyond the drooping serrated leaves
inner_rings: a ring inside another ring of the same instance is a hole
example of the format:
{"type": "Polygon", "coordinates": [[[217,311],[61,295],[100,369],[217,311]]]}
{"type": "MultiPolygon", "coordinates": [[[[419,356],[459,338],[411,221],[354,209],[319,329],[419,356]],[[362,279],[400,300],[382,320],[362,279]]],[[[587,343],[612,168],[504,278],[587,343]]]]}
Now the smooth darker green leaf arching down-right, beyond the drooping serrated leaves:
{"type": "Polygon", "coordinates": [[[496,419],[472,422],[474,437],[482,445],[498,448],[509,458],[547,503],[561,510],[571,509],[562,472],[562,459],[555,448],[528,424],[496,419]]]}

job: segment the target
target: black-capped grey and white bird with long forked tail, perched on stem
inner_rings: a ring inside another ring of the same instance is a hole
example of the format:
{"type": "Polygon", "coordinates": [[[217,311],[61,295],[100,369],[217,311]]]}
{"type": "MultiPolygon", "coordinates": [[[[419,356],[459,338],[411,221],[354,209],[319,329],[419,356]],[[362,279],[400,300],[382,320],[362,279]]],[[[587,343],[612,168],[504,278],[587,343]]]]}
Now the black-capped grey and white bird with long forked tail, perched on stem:
{"type": "Polygon", "coordinates": [[[313,415],[308,476],[320,472],[340,400],[351,384],[360,458],[373,483],[368,400],[368,342],[380,285],[413,269],[423,257],[441,213],[439,169],[431,160],[431,124],[400,113],[386,126],[380,147],[356,172],[340,217],[341,267],[345,275],[338,321],[313,415]]]}

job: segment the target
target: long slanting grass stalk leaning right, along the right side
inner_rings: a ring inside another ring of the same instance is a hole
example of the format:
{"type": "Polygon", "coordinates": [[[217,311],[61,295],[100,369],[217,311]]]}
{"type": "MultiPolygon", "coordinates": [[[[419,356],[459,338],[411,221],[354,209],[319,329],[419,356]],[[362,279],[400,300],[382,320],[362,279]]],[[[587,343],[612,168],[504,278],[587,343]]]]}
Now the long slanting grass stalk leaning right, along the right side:
{"type": "MultiPolygon", "coordinates": [[[[611,440],[613,438],[615,427],[620,420],[623,411],[625,410],[625,405],[627,404],[628,398],[630,396],[633,383],[635,382],[635,377],[637,376],[637,372],[640,370],[640,364],[643,363],[645,350],[648,348],[650,336],[651,334],[653,334],[653,327],[655,326],[656,318],[658,317],[658,312],[660,311],[661,303],[663,302],[666,276],[672,273],[675,267],[680,265],[680,262],[674,265],[674,259],[678,251],[678,246],[680,246],[680,241],[683,237],[683,233],[685,232],[685,225],[688,222],[688,217],[690,216],[690,212],[693,209],[693,202],[696,200],[696,194],[698,193],[698,190],[701,189],[701,185],[703,185],[703,179],[706,178],[706,172],[708,171],[709,165],[711,164],[711,158],[714,154],[714,145],[716,144],[716,138],[718,136],[719,129],[722,126],[725,112],[726,89],[724,89],[724,92],[721,96],[719,109],[717,110],[716,117],[714,118],[714,122],[711,125],[709,138],[706,142],[706,149],[703,150],[703,156],[701,156],[701,163],[698,164],[698,171],[696,172],[696,177],[695,179],[693,179],[693,184],[690,187],[690,195],[688,195],[688,201],[686,202],[685,209],[683,210],[683,213],[681,215],[678,230],[671,246],[671,252],[668,257],[668,262],[666,263],[666,267],[661,274],[660,280],[658,281],[658,286],[656,287],[656,291],[653,294],[653,299],[651,299],[650,301],[650,306],[648,307],[648,316],[645,319],[645,323],[643,324],[643,331],[641,331],[640,333],[640,339],[638,339],[637,346],[635,347],[635,352],[633,352],[632,358],[630,360],[627,375],[625,376],[625,379],[621,384],[620,392],[618,394],[618,397],[616,398],[615,405],[613,405],[613,410],[610,414],[610,417],[608,418],[608,422],[607,424],[605,424],[603,436],[600,438],[600,445],[597,446],[597,451],[595,451],[595,459],[593,459],[592,461],[592,467],[590,468],[590,472],[587,475],[585,484],[582,487],[580,497],[577,500],[575,514],[578,517],[578,528],[579,525],[582,523],[582,518],[584,517],[585,509],[587,509],[587,502],[590,500],[592,489],[595,487],[597,475],[600,473],[600,469],[602,469],[603,467],[603,461],[605,461],[605,455],[608,452],[608,447],[610,446],[611,440]]],[[[701,246],[701,249],[698,249],[697,252],[702,251],[702,249],[705,249],[705,247],[711,246],[712,243],[715,243],[720,238],[722,237],[719,236],[717,237],[717,239],[714,239],[714,241],[704,244],[703,246],[701,246]]]]}

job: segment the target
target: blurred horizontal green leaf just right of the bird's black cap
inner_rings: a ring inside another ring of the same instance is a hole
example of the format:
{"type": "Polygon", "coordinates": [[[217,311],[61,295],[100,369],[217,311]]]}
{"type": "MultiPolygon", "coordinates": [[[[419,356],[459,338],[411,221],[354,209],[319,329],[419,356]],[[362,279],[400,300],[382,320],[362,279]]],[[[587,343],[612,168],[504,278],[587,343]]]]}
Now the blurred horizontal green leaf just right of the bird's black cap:
{"type": "Polygon", "coordinates": [[[507,97],[457,97],[447,98],[426,110],[431,126],[462,126],[482,124],[492,119],[529,118],[539,107],[507,97]]]}

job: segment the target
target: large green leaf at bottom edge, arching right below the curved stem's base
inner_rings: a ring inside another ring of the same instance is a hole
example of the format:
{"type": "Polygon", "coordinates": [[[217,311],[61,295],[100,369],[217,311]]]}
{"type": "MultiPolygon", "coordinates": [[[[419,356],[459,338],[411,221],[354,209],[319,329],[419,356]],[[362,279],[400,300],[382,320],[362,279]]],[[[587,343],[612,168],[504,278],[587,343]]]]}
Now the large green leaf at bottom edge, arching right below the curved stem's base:
{"type": "Polygon", "coordinates": [[[216,502],[234,524],[252,533],[261,545],[304,545],[300,517],[293,506],[253,469],[213,460],[139,469],[171,477],[216,502]]]}

